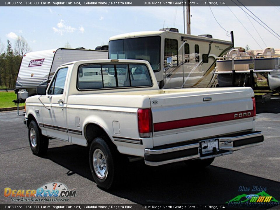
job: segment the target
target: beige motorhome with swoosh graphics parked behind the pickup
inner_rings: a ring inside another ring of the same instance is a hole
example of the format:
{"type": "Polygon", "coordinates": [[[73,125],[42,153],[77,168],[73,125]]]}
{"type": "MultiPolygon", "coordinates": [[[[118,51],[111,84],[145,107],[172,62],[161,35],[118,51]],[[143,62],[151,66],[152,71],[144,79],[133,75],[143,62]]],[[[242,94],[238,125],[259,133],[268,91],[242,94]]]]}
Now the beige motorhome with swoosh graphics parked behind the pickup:
{"type": "Polygon", "coordinates": [[[113,36],[108,51],[110,59],[147,60],[160,88],[207,88],[217,84],[216,75],[210,74],[216,58],[232,46],[231,41],[211,35],[181,34],[167,28],[113,36]]]}

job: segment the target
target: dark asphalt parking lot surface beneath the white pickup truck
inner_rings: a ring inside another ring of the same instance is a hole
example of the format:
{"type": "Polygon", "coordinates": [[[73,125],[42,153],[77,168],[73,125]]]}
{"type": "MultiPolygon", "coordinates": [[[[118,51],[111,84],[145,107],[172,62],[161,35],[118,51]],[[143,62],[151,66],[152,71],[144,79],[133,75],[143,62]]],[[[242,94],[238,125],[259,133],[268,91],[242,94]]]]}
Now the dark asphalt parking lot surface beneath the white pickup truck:
{"type": "MultiPolygon", "coordinates": [[[[45,183],[61,182],[76,190],[76,197],[68,202],[76,204],[224,204],[248,194],[245,188],[266,188],[269,195],[280,200],[279,104],[280,99],[257,103],[256,127],[265,136],[262,146],[218,157],[199,171],[184,163],[148,167],[134,162],[124,171],[123,184],[108,192],[99,189],[91,178],[87,148],[51,140],[47,155],[37,157],[29,148],[23,112],[20,116],[15,111],[1,112],[0,189],[37,189],[45,183]]],[[[0,203],[13,202],[2,191],[0,203]]]]}

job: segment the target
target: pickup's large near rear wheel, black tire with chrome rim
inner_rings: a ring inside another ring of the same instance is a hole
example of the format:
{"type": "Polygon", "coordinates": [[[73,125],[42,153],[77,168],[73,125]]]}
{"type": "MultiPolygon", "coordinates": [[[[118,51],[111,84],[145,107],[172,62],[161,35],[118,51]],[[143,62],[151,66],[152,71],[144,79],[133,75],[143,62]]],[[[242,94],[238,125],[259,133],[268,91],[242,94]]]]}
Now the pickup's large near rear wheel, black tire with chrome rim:
{"type": "Polygon", "coordinates": [[[90,145],[90,171],[97,185],[108,190],[120,176],[120,154],[106,136],[95,138],[90,145]],[[100,152],[101,151],[101,152],[100,152]],[[104,165],[105,160],[105,165],[104,165]],[[106,171],[103,173],[103,171],[106,171]]]}

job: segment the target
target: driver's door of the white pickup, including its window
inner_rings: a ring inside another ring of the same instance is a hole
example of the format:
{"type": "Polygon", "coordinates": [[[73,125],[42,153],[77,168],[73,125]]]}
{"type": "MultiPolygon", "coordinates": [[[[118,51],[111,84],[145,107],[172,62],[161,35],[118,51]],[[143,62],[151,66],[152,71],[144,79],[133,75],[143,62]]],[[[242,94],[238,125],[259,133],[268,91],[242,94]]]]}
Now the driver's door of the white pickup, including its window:
{"type": "Polygon", "coordinates": [[[68,67],[59,69],[54,76],[48,94],[49,109],[43,109],[43,126],[47,128],[47,135],[68,141],[66,127],[65,82],[68,67]]]}

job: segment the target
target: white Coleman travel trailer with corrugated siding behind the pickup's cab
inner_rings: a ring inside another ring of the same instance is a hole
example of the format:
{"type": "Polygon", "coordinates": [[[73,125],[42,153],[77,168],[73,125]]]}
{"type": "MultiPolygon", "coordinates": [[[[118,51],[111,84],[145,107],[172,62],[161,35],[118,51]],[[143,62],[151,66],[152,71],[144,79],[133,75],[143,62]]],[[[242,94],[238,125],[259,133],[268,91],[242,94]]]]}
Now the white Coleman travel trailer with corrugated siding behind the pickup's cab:
{"type": "Polygon", "coordinates": [[[36,95],[36,88],[47,87],[57,67],[64,63],[107,58],[108,51],[105,50],[57,48],[26,53],[18,72],[15,92],[27,90],[29,96],[36,95]]]}

